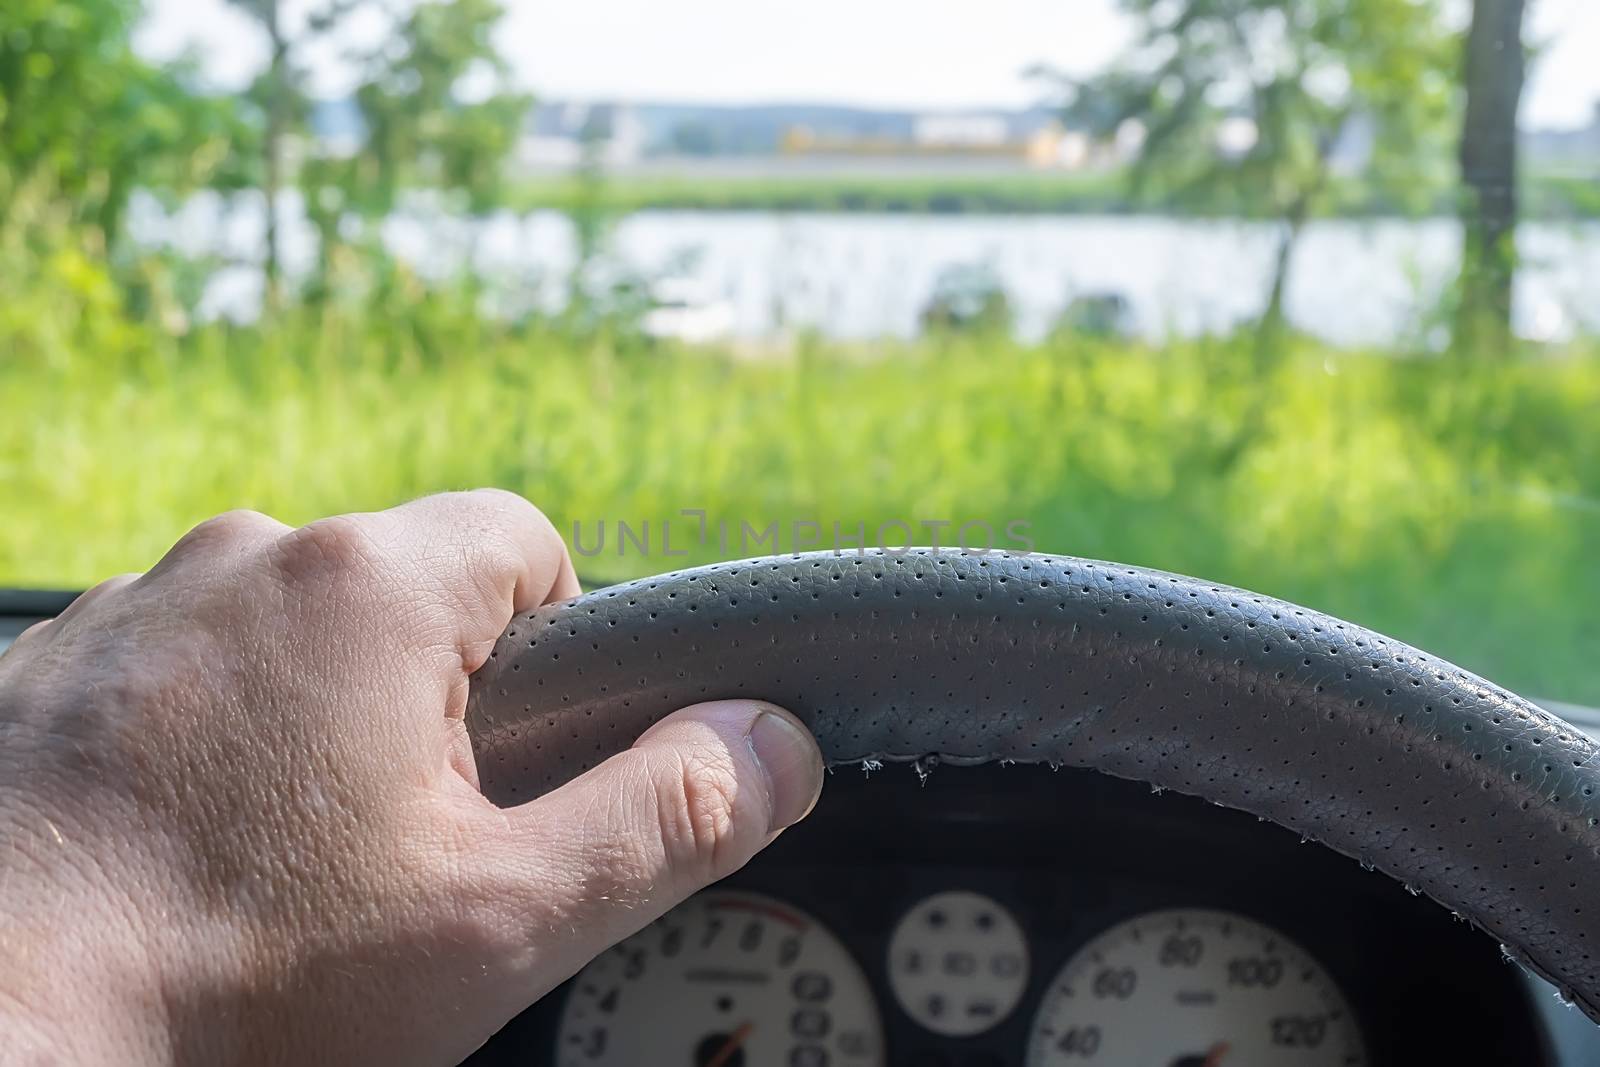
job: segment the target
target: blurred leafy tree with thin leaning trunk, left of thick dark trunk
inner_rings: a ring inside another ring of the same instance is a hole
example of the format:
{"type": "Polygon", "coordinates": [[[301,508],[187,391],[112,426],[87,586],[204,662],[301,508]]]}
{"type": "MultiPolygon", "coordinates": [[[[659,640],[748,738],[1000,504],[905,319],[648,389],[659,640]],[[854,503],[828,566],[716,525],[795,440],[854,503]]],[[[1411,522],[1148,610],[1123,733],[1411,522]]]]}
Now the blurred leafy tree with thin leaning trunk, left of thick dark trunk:
{"type": "Polygon", "coordinates": [[[1138,144],[1138,197],[1282,222],[1258,331],[1269,358],[1296,245],[1334,179],[1416,206],[1443,182],[1453,67],[1437,0],[1120,3],[1134,40],[1069,83],[1067,118],[1138,144]]]}

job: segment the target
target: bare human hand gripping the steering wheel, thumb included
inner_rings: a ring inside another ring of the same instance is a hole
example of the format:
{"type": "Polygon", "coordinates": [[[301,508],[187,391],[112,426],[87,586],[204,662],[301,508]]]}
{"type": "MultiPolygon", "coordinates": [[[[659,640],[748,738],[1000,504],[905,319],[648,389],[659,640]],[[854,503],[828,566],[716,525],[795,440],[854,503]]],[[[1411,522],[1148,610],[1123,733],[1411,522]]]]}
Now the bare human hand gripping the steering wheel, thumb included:
{"type": "Polygon", "coordinates": [[[477,789],[467,678],[573,597],[496,491],[235,512],[0,656],[0,1033],[22,1062],[445,1064],[803,817],[816,742],[669,715],[568,785],[477,789]]]}

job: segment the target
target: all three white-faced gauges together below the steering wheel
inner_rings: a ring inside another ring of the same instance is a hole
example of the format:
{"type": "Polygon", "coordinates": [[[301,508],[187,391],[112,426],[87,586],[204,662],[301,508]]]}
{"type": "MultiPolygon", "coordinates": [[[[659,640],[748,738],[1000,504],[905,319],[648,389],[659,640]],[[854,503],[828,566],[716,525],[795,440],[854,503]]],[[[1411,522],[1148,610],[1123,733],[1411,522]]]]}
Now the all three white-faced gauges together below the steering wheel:
{"type": "MultiPolygon", "coordinates": [[[[1022,1009],[1027,942],[992,897],[941,891],[896,923],[893,1009],[968,1038],[1022,1009]]],[[[882,1011],[827,926],[774,897],[699,894],[576,979],[562,1067],[882,1067],[882,1011]]],[[[1029,1006],[1021,1061],[1171,1067],[1358,1067],[1360,1027],[1326,968],[1232,912],[1136,915],[1074,952],[1029,1006]]]]}

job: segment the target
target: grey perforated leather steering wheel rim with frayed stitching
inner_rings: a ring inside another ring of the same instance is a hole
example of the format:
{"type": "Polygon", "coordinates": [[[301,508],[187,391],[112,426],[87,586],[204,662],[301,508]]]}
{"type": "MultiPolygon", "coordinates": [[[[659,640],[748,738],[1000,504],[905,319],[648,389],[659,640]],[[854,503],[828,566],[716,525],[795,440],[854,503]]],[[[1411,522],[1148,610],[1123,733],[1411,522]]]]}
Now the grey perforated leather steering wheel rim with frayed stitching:
{"type": "Polygon", "coordinates": [[[1067,557],[742,560],[517,616],[467,725],[485,793],[517,803],[736,696],[795,710],[830,765],[1085,766],[1254,813],[1470,920],[1600,1022],[1595,742],[1350,622],[1067,557]]]}

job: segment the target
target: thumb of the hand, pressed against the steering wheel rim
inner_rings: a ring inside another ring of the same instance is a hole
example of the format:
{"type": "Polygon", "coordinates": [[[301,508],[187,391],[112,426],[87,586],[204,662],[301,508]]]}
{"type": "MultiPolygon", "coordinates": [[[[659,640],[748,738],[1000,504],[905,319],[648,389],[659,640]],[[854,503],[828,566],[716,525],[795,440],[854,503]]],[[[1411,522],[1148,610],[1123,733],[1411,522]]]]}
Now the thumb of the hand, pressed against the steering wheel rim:
{"type": "Polygon", "coordinates": [[[742,867],[822,790],[822,753],[792,713],[714,701],[667,715],[566,785],[502,814],[493,880],[525,931],[539,997],[618,941],[742,867]],[[531,918],[547,917],[542,928],[531,918]]]}

